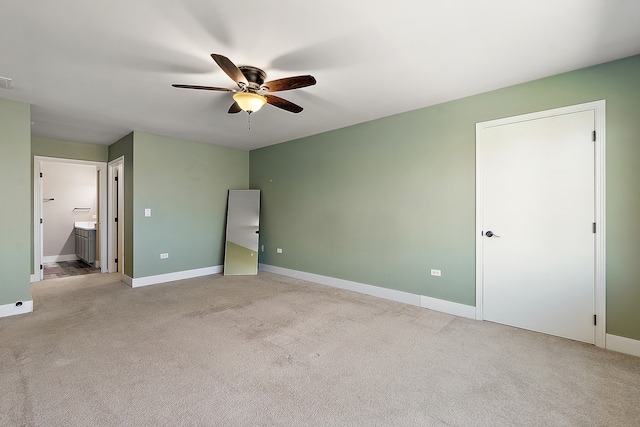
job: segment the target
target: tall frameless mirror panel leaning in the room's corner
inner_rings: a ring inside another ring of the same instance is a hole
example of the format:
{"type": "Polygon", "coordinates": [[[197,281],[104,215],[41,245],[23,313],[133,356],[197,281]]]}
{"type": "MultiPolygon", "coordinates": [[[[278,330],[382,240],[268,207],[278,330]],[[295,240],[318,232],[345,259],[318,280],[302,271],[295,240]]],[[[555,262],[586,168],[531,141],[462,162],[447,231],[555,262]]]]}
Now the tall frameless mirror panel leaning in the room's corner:
{"type": "Polygon", "coordinates": [[[260,190],[229,190],[224,274],[258,274],[260,190]]]}

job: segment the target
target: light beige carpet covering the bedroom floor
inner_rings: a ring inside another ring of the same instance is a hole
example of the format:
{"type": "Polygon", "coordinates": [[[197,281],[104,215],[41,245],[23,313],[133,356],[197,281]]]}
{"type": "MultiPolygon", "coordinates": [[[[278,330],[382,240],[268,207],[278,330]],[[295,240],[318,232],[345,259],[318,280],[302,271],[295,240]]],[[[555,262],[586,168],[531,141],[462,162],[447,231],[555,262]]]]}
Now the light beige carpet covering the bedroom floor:
{"type": "Polygon", "coordinates": [[[3,426],[635,426],[640,359],[261,272],[33,285],[3,426]]]}

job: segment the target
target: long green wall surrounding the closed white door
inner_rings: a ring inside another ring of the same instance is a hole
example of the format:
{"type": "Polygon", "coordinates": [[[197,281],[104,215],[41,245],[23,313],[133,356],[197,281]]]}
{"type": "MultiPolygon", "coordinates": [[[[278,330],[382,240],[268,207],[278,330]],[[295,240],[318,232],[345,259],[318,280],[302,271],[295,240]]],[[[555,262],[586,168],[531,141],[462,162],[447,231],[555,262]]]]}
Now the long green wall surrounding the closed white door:
{"type": "Polygon", "coordinates": [[[640,56],[252,151],[260,262],[473,306],[476,123],[600,99],[607,332],[640,339],[640,56]]]}

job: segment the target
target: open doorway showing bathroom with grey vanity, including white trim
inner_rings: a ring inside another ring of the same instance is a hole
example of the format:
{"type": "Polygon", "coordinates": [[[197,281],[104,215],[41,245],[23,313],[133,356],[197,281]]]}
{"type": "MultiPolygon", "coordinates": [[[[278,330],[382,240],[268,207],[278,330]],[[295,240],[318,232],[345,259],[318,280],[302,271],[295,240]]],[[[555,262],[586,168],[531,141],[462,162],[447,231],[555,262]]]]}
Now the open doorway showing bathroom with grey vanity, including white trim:
{"type": "Polygon", "coordinates": [[[72,275],[65,268],[107,271],[106,201],[105,163],[34,158],[32,282],[44,279],[46,264],[60,265],[52,277],[72,275]]]}

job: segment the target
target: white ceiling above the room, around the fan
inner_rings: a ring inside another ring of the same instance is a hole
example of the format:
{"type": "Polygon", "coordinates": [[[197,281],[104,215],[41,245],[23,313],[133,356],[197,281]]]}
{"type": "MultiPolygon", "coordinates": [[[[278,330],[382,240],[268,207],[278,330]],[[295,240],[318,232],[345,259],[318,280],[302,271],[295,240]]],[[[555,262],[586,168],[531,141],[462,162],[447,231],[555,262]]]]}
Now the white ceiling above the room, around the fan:
{"type": "Polygon", "coordinates": [[[3,0],[0,98],[34,135],[111,144],[132,130],[254,149],[640,53],[638,0],[3,0]],[[235,83],[312,74],[227,114],[235,83]]]}

